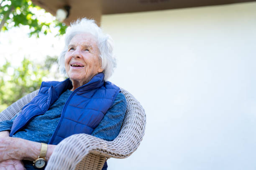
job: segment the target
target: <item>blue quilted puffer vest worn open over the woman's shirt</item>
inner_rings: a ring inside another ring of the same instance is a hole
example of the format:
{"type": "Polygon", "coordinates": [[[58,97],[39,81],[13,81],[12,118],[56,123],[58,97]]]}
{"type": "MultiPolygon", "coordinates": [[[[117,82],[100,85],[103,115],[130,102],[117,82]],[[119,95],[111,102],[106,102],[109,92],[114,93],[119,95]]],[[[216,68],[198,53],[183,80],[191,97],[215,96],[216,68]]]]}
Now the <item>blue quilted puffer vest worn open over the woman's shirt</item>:
{"type": "MultiPolygon", "coordinates": [[[[14,120],[10,136],[25,127],[33,117],[43,115],[63,92],[71,88],[69,79],[42,82],[38,95],[23,107],[14,120]]],[[[104,81],[103,73],[74,90],[63,107],[59,124],[48,144],[57,145],[64,138],[77,133],[91,134],[119,92],[119,87],[104,81]]]]}

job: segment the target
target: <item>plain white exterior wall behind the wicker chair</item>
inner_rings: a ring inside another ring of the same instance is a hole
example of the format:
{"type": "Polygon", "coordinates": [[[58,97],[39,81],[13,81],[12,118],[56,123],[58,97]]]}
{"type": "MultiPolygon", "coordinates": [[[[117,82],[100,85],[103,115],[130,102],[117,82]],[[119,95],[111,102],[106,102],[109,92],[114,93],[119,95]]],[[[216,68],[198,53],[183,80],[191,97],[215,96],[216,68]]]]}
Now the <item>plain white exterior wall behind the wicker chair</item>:
{"type": "Polygon", "coordinates": [[[147,115],[146,134],[110,170],[256,169],[256,3],[104,15],[110,79],[147,115]]]}

